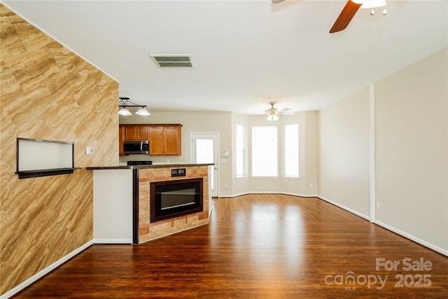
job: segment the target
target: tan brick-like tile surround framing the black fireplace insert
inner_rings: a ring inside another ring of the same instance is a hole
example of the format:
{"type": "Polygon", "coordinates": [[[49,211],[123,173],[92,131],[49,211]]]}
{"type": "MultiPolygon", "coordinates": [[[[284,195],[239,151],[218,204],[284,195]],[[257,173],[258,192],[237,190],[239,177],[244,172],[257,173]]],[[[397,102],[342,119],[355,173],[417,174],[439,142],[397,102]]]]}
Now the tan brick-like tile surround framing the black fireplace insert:
{"type": "Polygon", "coordinates": [[[186,167],[186,176],[172,177],[172,167],[139,169],[139,244],[209,223],[208,166],[186,167]],[[151,181],[203,178],[203,211],[151,223],[151,181]]]}

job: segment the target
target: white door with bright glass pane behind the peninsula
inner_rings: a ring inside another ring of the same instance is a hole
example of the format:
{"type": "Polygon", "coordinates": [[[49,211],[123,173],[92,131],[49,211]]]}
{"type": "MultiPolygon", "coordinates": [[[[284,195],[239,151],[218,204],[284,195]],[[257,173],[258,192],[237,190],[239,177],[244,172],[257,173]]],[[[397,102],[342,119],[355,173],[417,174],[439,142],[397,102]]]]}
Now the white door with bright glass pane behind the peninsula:
{"type": "Polygon", "coordinates": [[[191,133],[191,161],[209,166],[209,193],[218,197],[218,133],[191,133]]]}

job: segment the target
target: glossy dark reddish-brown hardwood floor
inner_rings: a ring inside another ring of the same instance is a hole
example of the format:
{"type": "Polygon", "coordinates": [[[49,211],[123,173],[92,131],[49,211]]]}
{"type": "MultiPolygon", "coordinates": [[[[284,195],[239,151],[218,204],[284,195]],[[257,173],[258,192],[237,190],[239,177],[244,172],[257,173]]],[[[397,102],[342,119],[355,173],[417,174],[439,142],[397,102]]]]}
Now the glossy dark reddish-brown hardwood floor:
{"type": "Polygon", "coordinates": [[[17,298],[448,298],[446,256],[323,200],[211,206],[209,225],[90,246],[17,298]]]}

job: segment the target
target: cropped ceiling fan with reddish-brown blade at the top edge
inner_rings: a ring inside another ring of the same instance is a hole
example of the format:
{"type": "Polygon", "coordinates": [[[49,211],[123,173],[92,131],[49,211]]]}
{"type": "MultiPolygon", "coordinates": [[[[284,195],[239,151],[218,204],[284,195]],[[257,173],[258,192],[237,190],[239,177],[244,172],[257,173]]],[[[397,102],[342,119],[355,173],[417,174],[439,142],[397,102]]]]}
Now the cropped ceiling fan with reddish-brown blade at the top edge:
{"type": "MultiPolygon", "coordinates": [[[[271,0],[272,4],[278,4],[285,0],[271,0]]],[[[342,8],[339,17],[337,17],[335,24],[330,29],[330,33],[335,33],[346,29],[349,22],[355,16],[359,8],[376,8],[386,6],[386,0],[349,0],[342,8]]],[[[374,15],[374,10],[370,11],[370,15],[374,15]]],[[[383,15],[386,15],[387,11],[384,9],[383,15]]]]}

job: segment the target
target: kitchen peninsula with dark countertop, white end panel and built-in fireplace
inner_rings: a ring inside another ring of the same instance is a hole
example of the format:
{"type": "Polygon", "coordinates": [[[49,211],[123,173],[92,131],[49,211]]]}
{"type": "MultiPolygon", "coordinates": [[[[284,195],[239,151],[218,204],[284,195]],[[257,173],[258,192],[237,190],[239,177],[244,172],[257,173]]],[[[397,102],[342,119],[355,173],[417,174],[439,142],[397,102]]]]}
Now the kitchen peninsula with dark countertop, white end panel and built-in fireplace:
{"type": "Polygon", "coordinates": [[[209,165],[87,167],[94,242],[141,244],[208,224],[209,165]]]}

